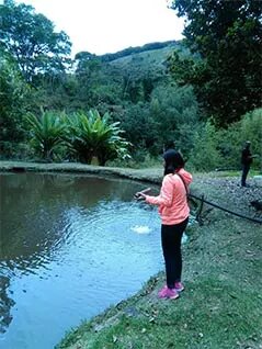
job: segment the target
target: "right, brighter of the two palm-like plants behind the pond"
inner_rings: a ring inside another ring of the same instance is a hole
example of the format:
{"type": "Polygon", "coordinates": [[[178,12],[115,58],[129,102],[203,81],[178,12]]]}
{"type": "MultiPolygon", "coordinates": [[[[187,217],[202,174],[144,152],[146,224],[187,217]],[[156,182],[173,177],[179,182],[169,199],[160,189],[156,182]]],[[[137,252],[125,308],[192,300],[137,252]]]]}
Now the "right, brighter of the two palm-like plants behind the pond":
{"type": "Polygon", "coordinates": [[[119,123],[110,123],[110,115],[105,113],[101,117],[96,110],[87,114],[75,113],[71,117],[66,116],[68,124],[67,143],[80,161],[90,164],[96,157],[99,165],[116,157],[128,157],[129,145],[123,137],[119,123]]]}

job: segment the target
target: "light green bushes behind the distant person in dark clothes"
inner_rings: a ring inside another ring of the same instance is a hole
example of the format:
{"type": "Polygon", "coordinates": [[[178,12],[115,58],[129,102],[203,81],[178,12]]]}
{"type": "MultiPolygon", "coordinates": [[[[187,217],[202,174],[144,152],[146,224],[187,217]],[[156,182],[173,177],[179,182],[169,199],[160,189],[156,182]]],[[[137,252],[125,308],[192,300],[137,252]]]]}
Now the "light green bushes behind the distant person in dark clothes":
{"type": "Polygon", "coordinates": [[[241,149],[247,139],[258,157],[253,167],[261,169],[262,109],[247,113],[227,130],[217,131],[207,122],[198,126],[190,162],[197,170],[241,169],[241,149]]]}

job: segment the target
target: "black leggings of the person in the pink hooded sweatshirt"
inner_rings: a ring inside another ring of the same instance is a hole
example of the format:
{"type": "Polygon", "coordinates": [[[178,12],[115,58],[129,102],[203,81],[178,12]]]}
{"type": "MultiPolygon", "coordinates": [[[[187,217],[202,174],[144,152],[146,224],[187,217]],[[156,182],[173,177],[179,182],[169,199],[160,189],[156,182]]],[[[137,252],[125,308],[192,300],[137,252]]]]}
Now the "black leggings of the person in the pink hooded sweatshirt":
{"type": "Polygon", "coordinates": [[[181,240],[186,228],[189,217],[174,225],[161,225],[161,243],[166,263],[167,285],[174,288],[174,283],[181,281],[182,255],[181,240]]]}

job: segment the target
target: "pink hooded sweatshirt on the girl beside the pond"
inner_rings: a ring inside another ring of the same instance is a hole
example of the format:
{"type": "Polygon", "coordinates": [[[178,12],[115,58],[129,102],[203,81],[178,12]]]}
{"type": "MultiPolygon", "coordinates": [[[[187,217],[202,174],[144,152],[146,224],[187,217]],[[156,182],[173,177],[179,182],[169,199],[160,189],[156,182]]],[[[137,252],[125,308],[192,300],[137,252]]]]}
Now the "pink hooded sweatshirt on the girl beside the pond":
{"type": "MultiPolygon", "coordinates": [[[[183,168],[179,170],[185,185],[192,182],[192,174],[183,168]]],[[[163,178],[160,194],[158,196],[146,195],[146,202],[158,205],[162,224],[173,225],[183,222],[190,215],[186,190],[182,179],[178,174],[167,174],[163,178]]]]}

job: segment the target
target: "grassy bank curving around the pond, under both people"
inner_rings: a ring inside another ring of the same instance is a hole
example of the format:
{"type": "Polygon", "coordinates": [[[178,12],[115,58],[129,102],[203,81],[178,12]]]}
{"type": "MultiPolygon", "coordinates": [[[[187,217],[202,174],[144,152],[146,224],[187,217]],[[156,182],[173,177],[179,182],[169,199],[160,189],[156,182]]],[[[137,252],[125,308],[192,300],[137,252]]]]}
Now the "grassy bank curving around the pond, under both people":
{"type": "MultiPolygon", "coordinates": [[[[80,165],[76,168],[75,164],[59,165],[58,169],[57,165],[49,168],[35,165],[34,169],[30,166],[31,170],[41,171],[111,172],[132,179],[161,180],[161,169],[103,169],[80,165]]],[[[249,178],[250,188],[240,188],[238,182],[238,177],[228,173],[198,173],[194,176],[192,191],[261,218],[261,213],[249,205],[250,200],[261,198],[261,188],[252,178],[249,178]]],[[[133,297],[68,333],[57,348],[261,349],[261,225],[207,206],[203,219],[204,225],[187,232],[190,238],[183,250],[186,289],[179,300],[158,300],[157,292],[164,282],[163,273],[159,273],[133,297]]]]}

